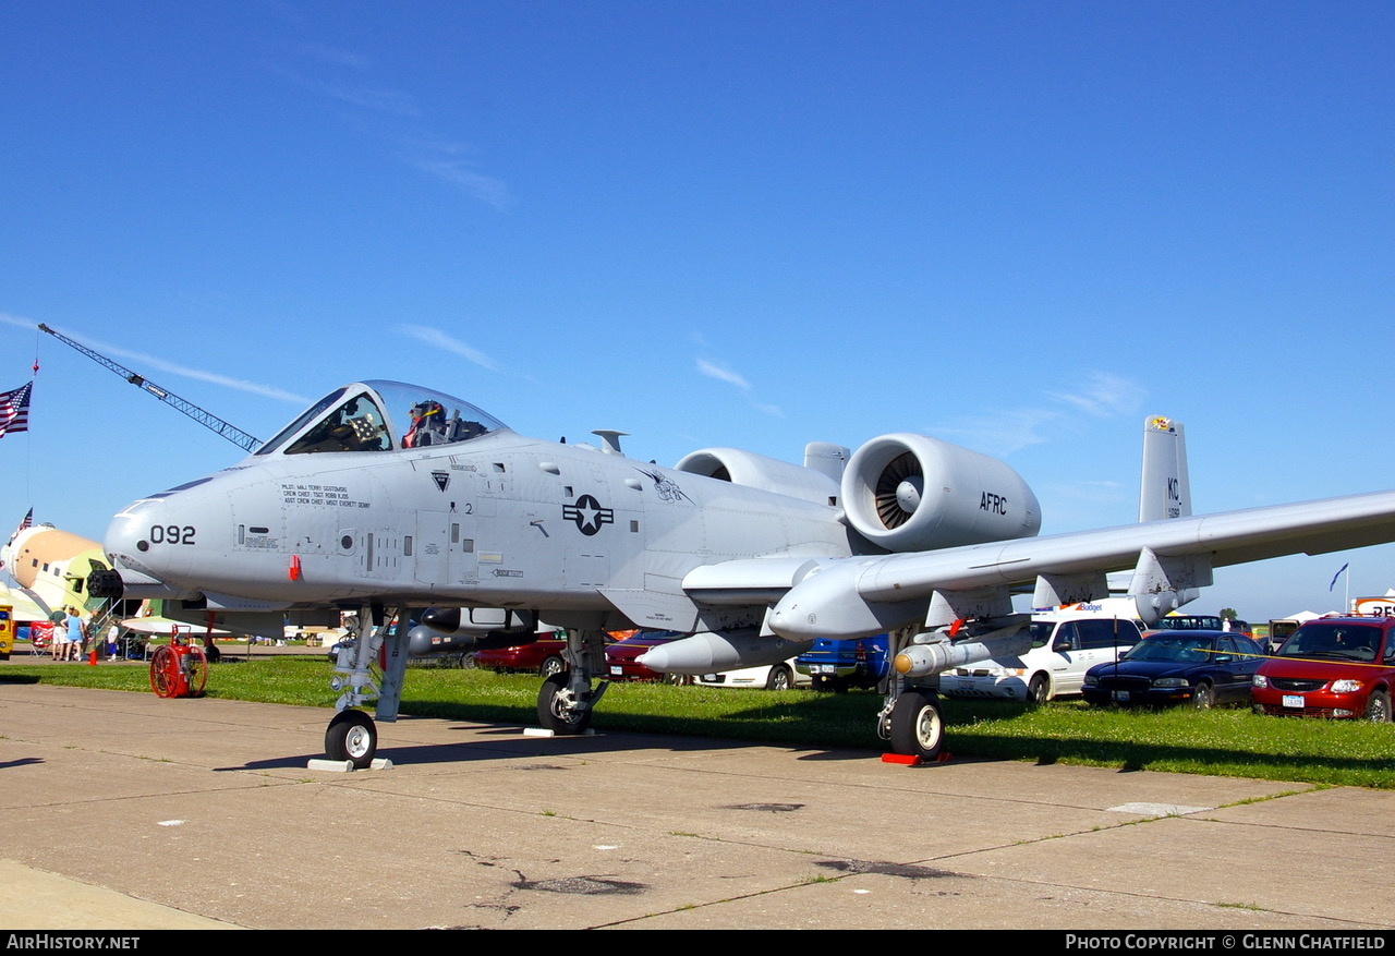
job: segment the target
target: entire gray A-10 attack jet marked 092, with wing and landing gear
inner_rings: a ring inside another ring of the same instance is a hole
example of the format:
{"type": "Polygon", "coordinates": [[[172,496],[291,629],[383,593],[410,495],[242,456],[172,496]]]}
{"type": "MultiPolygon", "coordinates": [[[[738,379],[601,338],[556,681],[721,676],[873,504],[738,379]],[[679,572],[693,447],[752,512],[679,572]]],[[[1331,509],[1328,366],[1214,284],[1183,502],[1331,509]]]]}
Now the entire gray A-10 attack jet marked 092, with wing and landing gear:
{"type": "Polygon", "coordinates": [[[121,511],[105,540],[114,571],[92,586],[254,632],[350,607],[382,622],[332,681],[326,752],[360,766],[378,729],[359,708],[395,719],[413,615],[509,643],[540,620],[566,628],[571,667],[538,694],[540,722],[564,734],[605,691],[608,629],[691,634],[643,659],[686,674],[889,631],[897,675],[877,727],[896,752],[933,758],[943,719],[925,680],[1024,650],[1014,592],[1032,607],[1091,600],[1131,569],[1124,590],[1148,621],[1214,567],[1395,540],[1395,493],[1193,516],[1168,419],[1145,423],[1144,521],[1045,537],[1010,466],[923,435],[851,455],[812,444],[802,466],[709,448],[660,468],[596,434],[594,448],[540,441],[431,389],[345,385],[237,465],[121,511]]]}

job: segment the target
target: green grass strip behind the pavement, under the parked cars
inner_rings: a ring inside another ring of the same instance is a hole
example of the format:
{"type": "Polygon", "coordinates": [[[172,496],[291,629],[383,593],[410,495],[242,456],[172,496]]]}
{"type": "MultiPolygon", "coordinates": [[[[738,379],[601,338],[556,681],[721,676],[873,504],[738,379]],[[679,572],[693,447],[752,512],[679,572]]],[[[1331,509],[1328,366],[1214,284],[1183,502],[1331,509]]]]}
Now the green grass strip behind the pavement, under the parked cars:
{"type": "MultiPolygon", "coordinates": [[[[212,667],[215,698],[331,706],[321,656],[232,660],[212,667]]],[[[149,692],[141,666],[0,664],[0,680],[149,692]]],[[[536,724],[538,678],[413,667],[403,713],[516,726],[536,724]]],[[[882,698],[866,692],[730,691],[612,684],[594,726],[757,741],[798,748],[879,748],[882,698]]],[[[1265,780],[1395,789],[1395,724],[1260,717],[1244,709],[1116,710],[1053,701],[947,701],[946,749],[1039,763],[1080,763],[1265,780]]]]}

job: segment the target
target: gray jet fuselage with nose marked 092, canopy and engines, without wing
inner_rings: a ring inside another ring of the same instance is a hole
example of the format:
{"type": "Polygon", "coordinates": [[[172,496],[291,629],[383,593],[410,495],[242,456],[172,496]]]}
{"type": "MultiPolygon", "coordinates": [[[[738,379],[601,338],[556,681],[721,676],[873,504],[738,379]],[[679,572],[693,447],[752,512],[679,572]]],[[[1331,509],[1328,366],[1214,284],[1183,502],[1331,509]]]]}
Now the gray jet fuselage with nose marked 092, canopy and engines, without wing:
{"type": "MultiPolygon", "coordinates": [[[[759,627],[810,561],[886,553],[845,519],[844,448],[810,447],[826,470],[720,448],[670,469],[612,444],[525,438],[396,382],[356,384],[315,409],[239,465],[117,515],[106,548],[128,592],[234,611],[476,606],[700,631],[759,627]],[[424,416],[439,427],[400,414],[423,406],[439,409],[424,416]],[[759,561],[685,588],[695,569],[738,560],[759,561]]],[[[875,533],[900,532],[917,511],[939,512],[925,542],[942,547],[1035,533],[1036,501],[1011,469],[944,442],[933,451],[986,481],[907,501],[923,472],[907,456],[891,504],[866,490],[864,511],[891,515],[875,533]]]]}

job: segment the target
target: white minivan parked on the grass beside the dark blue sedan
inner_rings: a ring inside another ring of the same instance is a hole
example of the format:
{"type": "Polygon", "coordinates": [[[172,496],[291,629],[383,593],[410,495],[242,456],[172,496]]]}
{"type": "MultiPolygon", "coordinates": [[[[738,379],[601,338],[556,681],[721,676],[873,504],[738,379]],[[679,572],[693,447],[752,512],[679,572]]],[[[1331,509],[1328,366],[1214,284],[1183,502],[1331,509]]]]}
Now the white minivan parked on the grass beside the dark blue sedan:
{"type": "Polygon", "coordinates": [[[1007,698],[1041,703],[1063,694],[1080,694],[1085,671],[1134,646],[1143,636],[1140,621],[1116,617],[1133,602],[1070,604],[1032,614],[1031,649],[1013,657],[953,667],[940,674],[940,694],[1007,698]]]}

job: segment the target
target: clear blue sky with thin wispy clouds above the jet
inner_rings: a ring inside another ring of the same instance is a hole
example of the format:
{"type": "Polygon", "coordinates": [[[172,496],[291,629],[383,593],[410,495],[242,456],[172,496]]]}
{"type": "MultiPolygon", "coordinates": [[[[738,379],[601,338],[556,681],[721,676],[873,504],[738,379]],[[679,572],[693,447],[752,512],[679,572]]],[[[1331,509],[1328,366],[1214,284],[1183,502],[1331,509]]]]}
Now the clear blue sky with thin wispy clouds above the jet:
{"type": "Polygon", "coordinates": [[[1152,413],[1198,511],[1391,487],[1392,47],[1380,3],[3,4],[0,521],[240,454],[36,322],[262,438],[377,377],[668,465],[922,431],[1043,532],[1134,519],[1152,413]]]}

